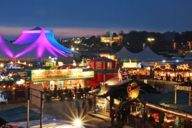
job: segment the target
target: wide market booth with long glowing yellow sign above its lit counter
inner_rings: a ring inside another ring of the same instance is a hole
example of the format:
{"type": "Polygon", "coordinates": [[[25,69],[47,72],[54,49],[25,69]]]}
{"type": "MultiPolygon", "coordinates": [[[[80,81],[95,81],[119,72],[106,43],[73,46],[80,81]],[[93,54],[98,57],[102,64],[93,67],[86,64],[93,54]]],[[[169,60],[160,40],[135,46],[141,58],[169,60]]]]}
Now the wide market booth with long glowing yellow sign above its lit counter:
{"type": "Polygon", "coordinates": [[[94,77],[94,71],[74,69],[39,69],[31,71],[31,80],[34,84],[41,84],[44,88],[73,89],[89,86],[89,79],[94,77]]]}

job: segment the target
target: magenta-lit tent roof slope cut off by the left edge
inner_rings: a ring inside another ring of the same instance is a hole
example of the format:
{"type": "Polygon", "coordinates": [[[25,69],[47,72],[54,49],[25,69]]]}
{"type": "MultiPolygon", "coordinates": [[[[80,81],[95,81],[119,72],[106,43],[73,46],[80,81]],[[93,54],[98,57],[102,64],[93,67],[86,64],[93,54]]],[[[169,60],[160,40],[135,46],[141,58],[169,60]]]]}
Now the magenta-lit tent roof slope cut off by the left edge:
{"type": "Polygon", "coordinates": [[[13,53],[9,49],[7,43],[4,38],[0,35],[0,58],[12,58],[13,53]]]}

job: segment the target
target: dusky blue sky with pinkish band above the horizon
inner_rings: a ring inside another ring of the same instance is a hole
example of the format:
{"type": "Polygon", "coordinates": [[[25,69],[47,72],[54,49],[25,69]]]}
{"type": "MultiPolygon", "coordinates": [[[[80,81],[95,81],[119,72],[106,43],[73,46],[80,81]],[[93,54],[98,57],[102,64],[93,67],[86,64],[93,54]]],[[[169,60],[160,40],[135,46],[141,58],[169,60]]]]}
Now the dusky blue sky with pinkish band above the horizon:
{"type": "Polygon", "coordinates": [[[46,26],[58,36],[192,30],[192,0],[1,0],[0,34],[46,26]]]}

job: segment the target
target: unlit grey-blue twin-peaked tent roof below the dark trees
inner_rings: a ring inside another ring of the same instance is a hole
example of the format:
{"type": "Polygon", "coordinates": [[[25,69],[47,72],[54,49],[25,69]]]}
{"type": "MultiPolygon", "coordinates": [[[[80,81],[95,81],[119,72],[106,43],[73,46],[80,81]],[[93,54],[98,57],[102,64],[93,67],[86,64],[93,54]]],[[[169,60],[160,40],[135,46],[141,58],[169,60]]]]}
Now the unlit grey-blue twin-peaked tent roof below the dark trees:
{"type": "Polygon", "coordinates": [[[123,59],[135,59],[135,60],[162,60],[163,57],[154,53],[149,47],[143,49],[143,51],[139,53],[131,53],[125,47],[123,47],[118,53],[117,56],[123,59]]]}

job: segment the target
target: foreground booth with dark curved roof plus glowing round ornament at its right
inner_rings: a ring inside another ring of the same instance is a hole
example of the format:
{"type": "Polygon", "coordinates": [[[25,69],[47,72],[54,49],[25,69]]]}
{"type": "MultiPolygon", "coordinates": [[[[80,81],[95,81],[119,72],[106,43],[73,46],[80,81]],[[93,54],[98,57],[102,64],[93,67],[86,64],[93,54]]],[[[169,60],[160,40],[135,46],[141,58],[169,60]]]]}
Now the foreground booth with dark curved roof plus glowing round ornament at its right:
{"type": "MultiPolygon", "coordinates": [[[[111,123],[114,118],[118,118],[118,113],[122,110],[128,114],[128,108],[122,108],[124,101],[131,103],[140,92],[140,87],[131,79],[120,80],[118,77],[110,79],[101,84],[101,88],[95,95],[96,106],[100,114],[108,114],[111,117],[111,123]]],[[[120,113],[119,113],[120,114],[120,113]]],[[[121,113],[122,114],[122,113],[121,113]]]]}

